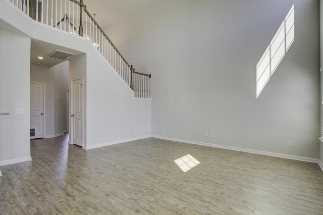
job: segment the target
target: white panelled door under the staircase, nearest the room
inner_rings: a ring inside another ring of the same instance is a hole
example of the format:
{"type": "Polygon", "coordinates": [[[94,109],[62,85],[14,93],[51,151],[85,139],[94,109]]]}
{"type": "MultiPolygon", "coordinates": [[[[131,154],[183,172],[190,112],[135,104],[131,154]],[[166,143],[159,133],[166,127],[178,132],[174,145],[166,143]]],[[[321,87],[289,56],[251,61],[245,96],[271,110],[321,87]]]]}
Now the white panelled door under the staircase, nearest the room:
{"type": "Polygon", "coordinates": [[[83,79],[73,81],[72,92],[73,144],[83,147],[83,79]]]}

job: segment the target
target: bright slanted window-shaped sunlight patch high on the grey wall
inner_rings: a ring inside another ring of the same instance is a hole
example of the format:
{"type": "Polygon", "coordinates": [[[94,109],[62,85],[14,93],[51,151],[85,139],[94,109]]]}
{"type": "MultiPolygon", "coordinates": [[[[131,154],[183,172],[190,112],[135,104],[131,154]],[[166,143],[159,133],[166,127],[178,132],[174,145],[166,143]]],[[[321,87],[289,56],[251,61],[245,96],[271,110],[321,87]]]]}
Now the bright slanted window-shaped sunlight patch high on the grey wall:
{"type": "Polygon", "coordinates": [[[256,98],[294,42],[294,5],[256,66],[256,98]]]}

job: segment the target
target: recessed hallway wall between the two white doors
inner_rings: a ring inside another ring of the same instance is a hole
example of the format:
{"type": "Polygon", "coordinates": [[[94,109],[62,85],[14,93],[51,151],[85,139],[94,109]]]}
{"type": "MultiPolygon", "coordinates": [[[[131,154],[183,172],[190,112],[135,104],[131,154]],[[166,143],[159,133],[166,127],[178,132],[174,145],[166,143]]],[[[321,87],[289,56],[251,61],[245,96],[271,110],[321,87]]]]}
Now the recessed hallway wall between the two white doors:
{"type": "Polygon", "coordinates": [[[68,61],[51,68],[30,65],[30,81],[45,83],[45,138],[55,137],[64,132],[64,117],[66,116],[64,104],[66,103],[66,88],[68,88],[66,83],[68,74],[68,61]]]}

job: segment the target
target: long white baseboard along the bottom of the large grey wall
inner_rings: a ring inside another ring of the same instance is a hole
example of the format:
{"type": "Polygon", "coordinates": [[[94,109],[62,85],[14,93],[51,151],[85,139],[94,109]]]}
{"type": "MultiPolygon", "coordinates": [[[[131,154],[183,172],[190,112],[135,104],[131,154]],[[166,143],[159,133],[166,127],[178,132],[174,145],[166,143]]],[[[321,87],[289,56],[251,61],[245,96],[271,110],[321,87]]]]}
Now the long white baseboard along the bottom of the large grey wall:
{"type": "Polygon", "coordinates": [[[164,140],[171,140],[171,141],[177,141],[177,142],[196,144],[196,145],[224,148],[224,149],[229,149],[229,150],[234,150],[234,151],[243,151],[243,152],[248,152],[248,153],[253,153],[253,154],[262,154],[262,155],[267,155],[267,156],[272,156],[272,157],[281,157],[281,158],[287,158],[287,159],[293,159],[293,160],[301,160],[304,162],[310,162],[310,163],[316,163],[316,164],[318,163],[318,159],[310,158],[310,157],[301,157],[301,156],[295,156],[295,155],[289,155],[289,154],[258,151],[258,150],[247,149],[247,148],[238,148],[238,147],[233,147],[233,146],[218,145],[218,144],[197,142],[197,141],[191,141],[191,140],[182,140],[182,139],[177,139],[177,138],[170,138],[170,137],[163,137],[163,136],[156,136],[156,135],[151,135],[151,137],[158,138],[158,139],[164,139],[164,140]]]}

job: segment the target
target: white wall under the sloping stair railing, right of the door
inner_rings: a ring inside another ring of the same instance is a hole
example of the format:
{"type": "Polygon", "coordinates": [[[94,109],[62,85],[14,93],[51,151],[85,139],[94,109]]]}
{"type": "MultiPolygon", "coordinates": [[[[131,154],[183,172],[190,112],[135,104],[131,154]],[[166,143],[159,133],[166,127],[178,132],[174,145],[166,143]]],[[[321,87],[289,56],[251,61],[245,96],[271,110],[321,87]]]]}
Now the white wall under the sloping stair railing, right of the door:
{"type": "Polygon", "coordinates": [[[87,52],[86,148],[150,137],[151,100],[133,93],[102,58],[87,52]]]}

